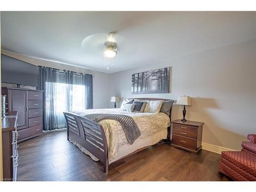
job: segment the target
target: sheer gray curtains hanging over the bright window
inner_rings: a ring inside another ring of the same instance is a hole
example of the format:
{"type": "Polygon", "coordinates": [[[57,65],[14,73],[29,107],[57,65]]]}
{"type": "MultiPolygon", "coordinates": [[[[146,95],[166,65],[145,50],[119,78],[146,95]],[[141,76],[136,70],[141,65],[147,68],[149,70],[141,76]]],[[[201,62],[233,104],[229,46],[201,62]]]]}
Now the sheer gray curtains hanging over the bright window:
{"type": "MultiPolygon", "coordinates": [[[[56,109],[56,83],[63,83],[63,97],[66,97],[66,103],[63,103],[65,111],[73,110],[73,86],[74,84],[84,86],[84,109],[93,108],[93,76],[90,74],[76,73],[73,71],[58,70],[49,67],[39,66],[39,89],[43,94],[43,118],[44,130],[50,131],[66,127],[65,117],[62,113],[57,113],[56,109]],[[65,89],[65,90],[64,90],[65,89]]],[[[62,84],[62,85],[63,85],[62,84]]],[[[59,90],[59,89],[58,89],[59,90]]]]}

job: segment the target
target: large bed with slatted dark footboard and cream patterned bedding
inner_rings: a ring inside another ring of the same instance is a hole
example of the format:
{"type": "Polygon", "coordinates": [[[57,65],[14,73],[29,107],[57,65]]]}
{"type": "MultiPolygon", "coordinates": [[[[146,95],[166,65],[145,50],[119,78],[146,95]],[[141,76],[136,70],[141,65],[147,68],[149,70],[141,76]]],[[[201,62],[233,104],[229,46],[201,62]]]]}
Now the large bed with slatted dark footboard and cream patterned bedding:
{"type": "MultiPolygon", "coordinates": [[[[131,99],[168,100],[159,98],[131,99]]],[[[101,161],[104,164],[104,173],[108,174],[111,163],[144,150],[161,140],[169,142],[171,112],[172,108],[169,116],[164,113],[129,113],[120,109],[93,109],[72,113],[64,112],[63,114],[67,121],[67,139],[94,161],[101,161]],[[117,121],[105,119],[97,123],[84,117],[95,113],[131,116],[139,126],[140,137],[129,144],[117,121]]]]}

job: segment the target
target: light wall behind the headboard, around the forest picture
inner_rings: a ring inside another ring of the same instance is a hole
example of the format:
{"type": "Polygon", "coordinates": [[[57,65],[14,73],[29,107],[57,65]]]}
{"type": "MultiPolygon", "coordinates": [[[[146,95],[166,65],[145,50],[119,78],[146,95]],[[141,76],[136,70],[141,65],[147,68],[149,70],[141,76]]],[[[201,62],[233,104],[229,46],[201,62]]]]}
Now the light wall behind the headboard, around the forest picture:
{"type": "MultiPolygon", "coordinates": [[[[111,95],[121,98],[192,97],[188,120],[204,122],[203,142],[239,150],[249,133],[256,133],[255,40],[160,61],[111,75],[111,95]],[[168,94],[131,94],[133,73],[172,67],[168,94]]],[[[110,104],[112,106],[112,104],[110,104]]],[[[174,106],[172,119],[182,118],[174,106]]]]}

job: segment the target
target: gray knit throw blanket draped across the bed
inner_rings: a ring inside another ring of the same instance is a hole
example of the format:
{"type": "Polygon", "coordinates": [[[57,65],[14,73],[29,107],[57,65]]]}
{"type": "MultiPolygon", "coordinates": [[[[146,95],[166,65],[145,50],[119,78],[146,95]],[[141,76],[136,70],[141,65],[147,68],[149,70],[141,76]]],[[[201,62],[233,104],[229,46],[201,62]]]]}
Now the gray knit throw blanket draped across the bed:
{"type": "Polygon", "coordinates": [[[89,114],[85,115],[85,118],[88,118],[92,121],[99,122],[104,119],[111,119],[118,121],[124,131],[125,137],[129,144],[133,142],[140,136],[140,130],[134,119],[127,115],[118,115],[118,114],[89,114]]]}

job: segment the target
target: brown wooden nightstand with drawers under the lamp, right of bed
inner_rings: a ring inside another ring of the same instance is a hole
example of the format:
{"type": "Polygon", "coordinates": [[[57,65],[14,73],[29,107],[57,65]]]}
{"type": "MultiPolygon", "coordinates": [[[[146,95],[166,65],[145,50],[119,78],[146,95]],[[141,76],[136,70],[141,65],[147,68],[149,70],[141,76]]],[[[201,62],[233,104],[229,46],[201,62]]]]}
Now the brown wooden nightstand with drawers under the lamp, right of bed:
{"type": "Polygon", "coordinates": [[[197,153],[202,149],[203,122],[186,121],[180,119],[172,121],[172,144],[171,146],[182,148],[191,153],[197,153]]]}

